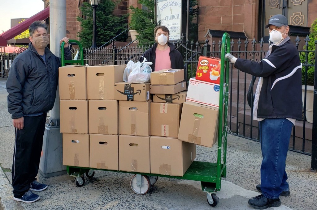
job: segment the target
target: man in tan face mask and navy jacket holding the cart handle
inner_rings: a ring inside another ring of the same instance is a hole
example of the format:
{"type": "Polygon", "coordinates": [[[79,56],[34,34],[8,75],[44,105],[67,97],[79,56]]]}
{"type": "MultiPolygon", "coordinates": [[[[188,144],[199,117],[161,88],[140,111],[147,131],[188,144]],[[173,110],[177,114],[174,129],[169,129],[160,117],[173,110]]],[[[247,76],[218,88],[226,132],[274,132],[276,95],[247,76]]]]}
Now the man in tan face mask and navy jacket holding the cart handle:
{"type": "MultiPolygon", "coordinates": [[[[12,115],[16,139],[12,164],[13,200],[32,203],[48,186],[36,181],[39,170],[46,113],[54,106],[61,59],[48,47],[47,25],[40,21],[29,26],[29,49],[19,54],[12,63],[6,83],[8,110],[12,115]],[[32,191],[30,191],[32,190],[32,191]]],[[[68,38],[65,59],[71,60],[68,38]]]]}

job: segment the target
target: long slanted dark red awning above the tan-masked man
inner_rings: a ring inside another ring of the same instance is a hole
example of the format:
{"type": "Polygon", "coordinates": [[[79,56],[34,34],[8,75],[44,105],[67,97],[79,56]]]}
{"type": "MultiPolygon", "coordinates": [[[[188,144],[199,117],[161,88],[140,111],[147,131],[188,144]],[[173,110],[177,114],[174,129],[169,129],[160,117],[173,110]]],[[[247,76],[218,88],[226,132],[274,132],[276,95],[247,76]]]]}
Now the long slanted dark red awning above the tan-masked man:
{"type": "Polygon", "coordinates": [[[26,31],[32,22],[34,21],[42,21],[49,17],[49,7],[43,9],[41,12],[33,15],[26,21],[17,24],[16,26],[10,28],[4,33],[0,34],[0,47],[7,46],[7,41],[14,38],[16,35],[21,34],[23,31],[26,31]]]}

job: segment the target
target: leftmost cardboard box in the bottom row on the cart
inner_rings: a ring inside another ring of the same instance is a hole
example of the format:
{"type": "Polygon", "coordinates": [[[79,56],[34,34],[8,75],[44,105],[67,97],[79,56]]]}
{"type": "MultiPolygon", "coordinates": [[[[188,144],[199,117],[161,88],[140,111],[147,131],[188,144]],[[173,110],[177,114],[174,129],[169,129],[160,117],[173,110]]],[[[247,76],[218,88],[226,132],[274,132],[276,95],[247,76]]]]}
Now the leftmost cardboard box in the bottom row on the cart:
{"type": "Polygon", "coordinates": [[[63,133],[63,165],[89,168],[89,134],[63,133]]]}

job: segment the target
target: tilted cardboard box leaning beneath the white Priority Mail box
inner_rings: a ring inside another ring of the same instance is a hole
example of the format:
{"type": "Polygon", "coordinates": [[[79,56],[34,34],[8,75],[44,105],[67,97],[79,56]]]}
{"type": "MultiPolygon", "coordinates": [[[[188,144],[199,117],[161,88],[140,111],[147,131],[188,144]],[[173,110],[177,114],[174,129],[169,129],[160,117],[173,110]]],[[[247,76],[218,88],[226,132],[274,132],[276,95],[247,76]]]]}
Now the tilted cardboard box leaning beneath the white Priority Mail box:
{"type": "Polygon", "coordinates": [[[212,147],[217,142],[219,110],[186,101],[183,104],[178,139],[212,147]]]}

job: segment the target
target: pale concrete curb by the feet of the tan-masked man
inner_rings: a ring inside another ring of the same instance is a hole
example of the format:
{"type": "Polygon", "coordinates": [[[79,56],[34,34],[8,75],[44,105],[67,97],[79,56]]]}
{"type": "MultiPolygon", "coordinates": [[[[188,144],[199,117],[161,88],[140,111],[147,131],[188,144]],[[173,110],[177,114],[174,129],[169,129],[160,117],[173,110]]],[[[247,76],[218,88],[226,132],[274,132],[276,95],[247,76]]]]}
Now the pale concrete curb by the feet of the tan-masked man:
{"type": "Polygon", "coordinates": [[[13,201],[12,185],[0,167],[0,210],[24,210],[21,203],[13,201]]]}

